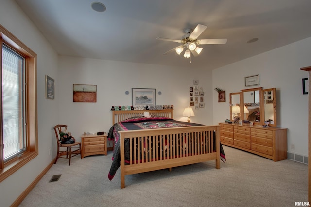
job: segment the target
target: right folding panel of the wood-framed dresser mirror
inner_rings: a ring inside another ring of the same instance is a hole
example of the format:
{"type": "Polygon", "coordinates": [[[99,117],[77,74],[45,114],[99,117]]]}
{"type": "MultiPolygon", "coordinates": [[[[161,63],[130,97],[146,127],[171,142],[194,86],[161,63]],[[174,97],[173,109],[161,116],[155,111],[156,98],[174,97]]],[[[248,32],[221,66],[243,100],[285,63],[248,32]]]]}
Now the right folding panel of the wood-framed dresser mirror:
{"type": "Polygon", "coordinates": [[[269,126],[276,127],[276,88],[262,90],[264,105],[264,121],[269,122],[269,126]]]}

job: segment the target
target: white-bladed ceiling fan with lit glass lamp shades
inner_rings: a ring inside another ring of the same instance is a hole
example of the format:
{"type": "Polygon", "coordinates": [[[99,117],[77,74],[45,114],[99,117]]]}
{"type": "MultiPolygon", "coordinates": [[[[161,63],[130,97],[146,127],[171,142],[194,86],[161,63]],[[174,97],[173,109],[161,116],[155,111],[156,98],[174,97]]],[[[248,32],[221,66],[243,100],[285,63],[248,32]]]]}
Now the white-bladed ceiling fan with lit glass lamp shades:
{"type": "MultiPolygon", "coordinates": [[[[182,43],[182,45],[177,46],[176,48],[173,48],[164,54],[167,54],[168,52],[175,50],[178,55],[184,50],[184,48],[187,48],[184,57],[189,58],[190,57],[190,51],[193,53],[194,51],[197,54],[200,54],[203,48],[198,47],[198,45],[209,45],[209,44],[226,44],[227,39],[197,39],[202,32],[206,30],[207,26],[198,24],[194,30],[192,29],[186,29],[185,35],[181,38],[181,40],[174,40],[174,39],[168,39],[168,38],[162,38],[157,37],[158,40],[164,40],[164,41],[170,41],[170,42],[177,42],[182,43]]],[[[195,53],[193,53],[195,54],[195,53]]]]}

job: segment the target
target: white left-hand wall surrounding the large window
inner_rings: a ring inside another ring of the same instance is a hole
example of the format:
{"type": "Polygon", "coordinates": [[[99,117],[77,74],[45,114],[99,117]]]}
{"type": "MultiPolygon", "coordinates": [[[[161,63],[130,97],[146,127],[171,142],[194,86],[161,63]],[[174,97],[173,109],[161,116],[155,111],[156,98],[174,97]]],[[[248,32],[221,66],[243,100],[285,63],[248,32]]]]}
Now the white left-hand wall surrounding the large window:
{"type": "Polygon", "coordinates": [[[57,77],[57,54],[13,0],[1,0],[0,24],[37,54],[39,155],[0,183],[2,207],[10,206],[55,157],[52,126],[58,123],[58,101],[45,98],[45,75],[57,77]]]}

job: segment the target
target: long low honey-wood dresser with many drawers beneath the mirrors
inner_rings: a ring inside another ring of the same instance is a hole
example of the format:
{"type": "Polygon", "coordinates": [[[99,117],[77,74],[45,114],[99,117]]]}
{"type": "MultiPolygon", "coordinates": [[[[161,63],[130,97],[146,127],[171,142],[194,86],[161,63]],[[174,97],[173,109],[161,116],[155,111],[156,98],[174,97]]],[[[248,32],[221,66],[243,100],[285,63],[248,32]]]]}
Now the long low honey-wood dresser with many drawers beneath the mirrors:
{"type": "Polygon", "coordinates": [[[286,128],[219,124],[220,141],[223,145],[242,149],[273,161],[287,159],[286,128]]]}

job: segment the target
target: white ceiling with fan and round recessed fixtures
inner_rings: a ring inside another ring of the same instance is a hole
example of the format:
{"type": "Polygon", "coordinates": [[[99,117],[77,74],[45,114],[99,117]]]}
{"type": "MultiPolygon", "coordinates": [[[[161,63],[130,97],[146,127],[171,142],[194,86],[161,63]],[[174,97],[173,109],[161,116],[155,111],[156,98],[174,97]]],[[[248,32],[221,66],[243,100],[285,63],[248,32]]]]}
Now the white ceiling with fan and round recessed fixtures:
{"type": "Polygon", "coordinates": [[[60,55],[215,69],[311,36],[311,0],[16,0],[60,55]],[[91,3],[106,6],[95,12],[91,3]],[[187,28],[207,25],[190,59],[180,45],[187,28]],[[251,38],[257,42],[246,43],[251,38]]]}

